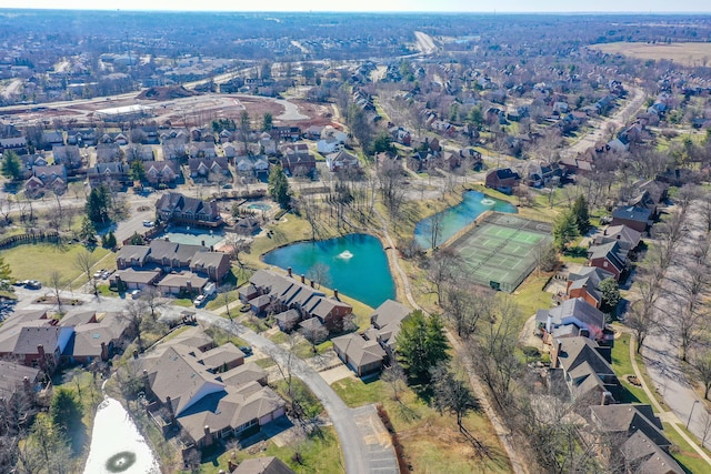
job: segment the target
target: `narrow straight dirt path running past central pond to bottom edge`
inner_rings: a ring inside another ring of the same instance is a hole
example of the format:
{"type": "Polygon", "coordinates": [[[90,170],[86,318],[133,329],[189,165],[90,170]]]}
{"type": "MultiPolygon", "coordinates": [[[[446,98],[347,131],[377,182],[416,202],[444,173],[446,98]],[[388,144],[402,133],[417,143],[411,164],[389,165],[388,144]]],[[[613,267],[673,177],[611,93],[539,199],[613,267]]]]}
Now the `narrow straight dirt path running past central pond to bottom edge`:
{"type": "MultiPolygon", "coordinates": [[[[417,303],[417,301],[414,301],[414,297],[412,296],[410,280],[408,279],[408,275],[404,272],[404,270],[402,270],[402,268],[400,266],[400,261],[398,260],[398,253],[397,253],[398,249],[395,248],[395,244],[392,241],[390,233],[388,232],[388,224],[385,222],[385,219],[382,216],[382,214],[380,214],[380,212],[375,211],[375,213],[378,214],[378,218],[382,223],[382,231],[385,240],[388,241],[388,245],[389,245],[388,260],[392,262],[391,268],[394,268],[395,274],[400,280],[400,282],[402,283],[402,286],[398,286],[398,288],[399,289],[402,288],[402,291],[404,292],[404,297],[408,300],[408,302],[412,307],[425,313],[425,311],[417,303]]],[[[483,385],[481,384],[481,381],[479,380],[479,377],[477,376],[477,373],[473,370],[471,357],[463,350],[459,340],[457,340],[457,337],[454,337],[454,335],[451,334],[449,331],[447,331],[447,339],[449,340],[450,344],[452,344],[452,347],[454,347],[457,353],[460,355],[462,365],[467,369],[467,374],[469,375],[469,381],[471,383],[474,395],[477,396],[477,399],[479,399],[482,410],[491,421],[491,425],[493,426],[497,433],[497,436],[499,437],[499,442],[501,443],[501,445],[507,452],[507,455],[509,456],[509,461],[511,462],[511,467],[513,472],[515,474],[527,474],[528,468],[523,463],[523,461],[521,460],[521,457],[519,456],[519,453],[513,447],[513,444],[511,443],[510,432],[504,427],[503,423],[501,422],[501,418],[499,417],[497,412],[493,410],[493,407],[489,403],[489,397],[487,396],[487,392],[484,391],[483,385]]]]}

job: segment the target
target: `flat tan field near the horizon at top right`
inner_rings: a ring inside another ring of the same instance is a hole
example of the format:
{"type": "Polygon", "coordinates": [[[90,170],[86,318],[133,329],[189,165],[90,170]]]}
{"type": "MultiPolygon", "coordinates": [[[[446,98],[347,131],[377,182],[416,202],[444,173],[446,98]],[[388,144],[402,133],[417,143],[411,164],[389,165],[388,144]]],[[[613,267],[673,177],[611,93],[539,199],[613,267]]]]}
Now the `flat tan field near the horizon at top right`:
{"type": "Polygon", "coordinates": [[[593,44],[590,49],[642,60],[667,59],[684,65],[703,65],[711,60],[711,43],[629,43],[593,44]]]}

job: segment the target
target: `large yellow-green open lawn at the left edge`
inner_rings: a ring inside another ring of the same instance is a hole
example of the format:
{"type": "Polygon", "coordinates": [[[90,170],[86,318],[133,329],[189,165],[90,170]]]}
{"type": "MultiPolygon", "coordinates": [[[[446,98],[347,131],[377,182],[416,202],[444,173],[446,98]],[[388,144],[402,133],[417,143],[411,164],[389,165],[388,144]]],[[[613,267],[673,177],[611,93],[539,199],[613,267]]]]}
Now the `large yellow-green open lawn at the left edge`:
{"type": "MultiPolygon", "coordinates": [[[[83,249],[86,248],[81,244],[56,245],[52,243],[37,243],[3,250],[0,252],[0,256],[12,269],[13,278],[18,280],[39,280],[47,286],[49,284],[49,275],[53,271],[60,272],[67,282],[81,276],[81,271],[74,268],[73,262],[83,249]]],[[[92,253],[97,260],[100,260],[111,252],[97,246],[92,253]]],[[[111,258],[101,262],[103,268],[109,268],[110,264],[116,266],[111,258]]],[[[86,283],[86,279],[81,278],[79,284],[83,283],[86,283]]]]}

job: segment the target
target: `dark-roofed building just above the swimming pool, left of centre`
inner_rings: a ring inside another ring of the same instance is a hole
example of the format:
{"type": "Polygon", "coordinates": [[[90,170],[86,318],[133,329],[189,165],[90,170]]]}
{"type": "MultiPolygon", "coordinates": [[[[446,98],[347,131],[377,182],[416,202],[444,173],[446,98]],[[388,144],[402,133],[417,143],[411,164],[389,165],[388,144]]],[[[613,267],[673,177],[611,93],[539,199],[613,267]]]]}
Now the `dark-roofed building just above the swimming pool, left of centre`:
{"type": "Polygon", "coordinates": [[[181,193],[163,194],[156,202],[156,212],[166,222],[218,228],[223,224],[217,201],[202,201],[181,193]]]}

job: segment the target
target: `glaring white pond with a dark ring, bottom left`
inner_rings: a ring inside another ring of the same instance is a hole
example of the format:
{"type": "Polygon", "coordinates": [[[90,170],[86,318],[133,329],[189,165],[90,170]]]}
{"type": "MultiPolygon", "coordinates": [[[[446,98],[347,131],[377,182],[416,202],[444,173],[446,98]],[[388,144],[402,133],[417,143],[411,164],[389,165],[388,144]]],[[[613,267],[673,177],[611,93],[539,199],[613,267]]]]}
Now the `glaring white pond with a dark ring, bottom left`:
{"type": "Polygon", "coordinates": [[[160,474],[153,452],[118,400],[107,397],[93,418],[84,474],[160,474]]]}

